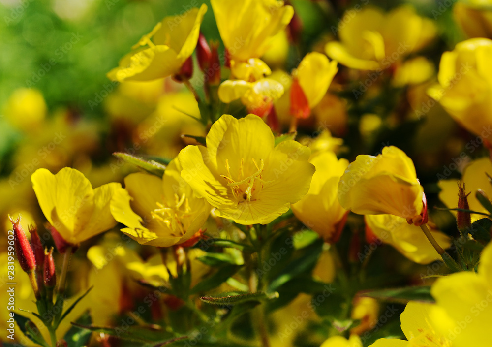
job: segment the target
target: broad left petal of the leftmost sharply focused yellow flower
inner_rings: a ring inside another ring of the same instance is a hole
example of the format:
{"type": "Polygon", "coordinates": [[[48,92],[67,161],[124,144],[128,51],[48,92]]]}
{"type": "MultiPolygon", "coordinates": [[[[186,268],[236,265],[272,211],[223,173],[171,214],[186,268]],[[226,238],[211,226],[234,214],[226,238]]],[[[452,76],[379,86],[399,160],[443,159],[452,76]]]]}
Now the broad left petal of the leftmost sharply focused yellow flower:
{"type": "Polygon", "coordinates": [[[46,219],[65,241],[77,244],[94,209],[91,182],[75,169],[64,167],[56,175],[38,169],[31,175],[32,188],[46,219]]]}

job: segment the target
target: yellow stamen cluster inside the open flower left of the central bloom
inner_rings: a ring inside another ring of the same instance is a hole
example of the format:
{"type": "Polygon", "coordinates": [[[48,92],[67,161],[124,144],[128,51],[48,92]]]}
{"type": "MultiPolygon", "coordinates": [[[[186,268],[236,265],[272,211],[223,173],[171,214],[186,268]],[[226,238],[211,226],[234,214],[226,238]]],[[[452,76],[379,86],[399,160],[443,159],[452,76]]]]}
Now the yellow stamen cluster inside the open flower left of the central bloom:
{"type": "Polygon", "coordinates": [[[169,207],[165,202],[157,202],[157,208],[151,212],[152,218],[163,226],[172,230],[171,236],[183,236],[186,232],[183,220],[192,215],[188,198],[183,194],[181,197],[174,194],[174,207],[169,207]]]}

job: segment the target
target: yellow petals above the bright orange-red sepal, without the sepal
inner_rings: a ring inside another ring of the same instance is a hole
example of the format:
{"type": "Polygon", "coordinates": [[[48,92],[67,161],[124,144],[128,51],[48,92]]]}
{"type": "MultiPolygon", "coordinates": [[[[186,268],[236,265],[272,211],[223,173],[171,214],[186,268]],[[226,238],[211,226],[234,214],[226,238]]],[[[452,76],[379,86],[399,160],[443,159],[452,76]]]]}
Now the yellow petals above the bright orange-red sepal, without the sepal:
{"type": "Polygon", "coordinates": [[[299,63],[297,78],[310,108],[321,101],[337,71],[337,62],[318,52],[308,53],[299,63]]]}

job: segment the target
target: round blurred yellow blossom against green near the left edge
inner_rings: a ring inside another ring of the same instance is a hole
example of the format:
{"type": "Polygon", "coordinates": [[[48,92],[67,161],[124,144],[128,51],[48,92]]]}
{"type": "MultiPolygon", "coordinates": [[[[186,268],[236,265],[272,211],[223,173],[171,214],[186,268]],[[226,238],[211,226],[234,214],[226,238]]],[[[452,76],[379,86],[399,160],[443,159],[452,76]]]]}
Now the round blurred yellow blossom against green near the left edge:
{"type": "Polygon", "coordinates": [[[40,126],[46,117],[44,97],[36,89],[16,89],[3,107],[9,123],[21,130],[31,131],[40,126]]]}

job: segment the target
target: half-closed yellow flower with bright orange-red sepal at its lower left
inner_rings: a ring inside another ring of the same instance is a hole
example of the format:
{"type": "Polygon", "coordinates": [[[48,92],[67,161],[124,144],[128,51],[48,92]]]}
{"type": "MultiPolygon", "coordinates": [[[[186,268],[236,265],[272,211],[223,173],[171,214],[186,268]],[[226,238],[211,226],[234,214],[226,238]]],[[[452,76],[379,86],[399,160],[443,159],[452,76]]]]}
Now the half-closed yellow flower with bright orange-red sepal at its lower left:
{"type": "Polygon", "coordinates": [[[307,118],[328,91],[337,73],[337,62],[321,53],[308,53],[297,69],[292,71],[290,113],[297,118],[307,118]]]}

